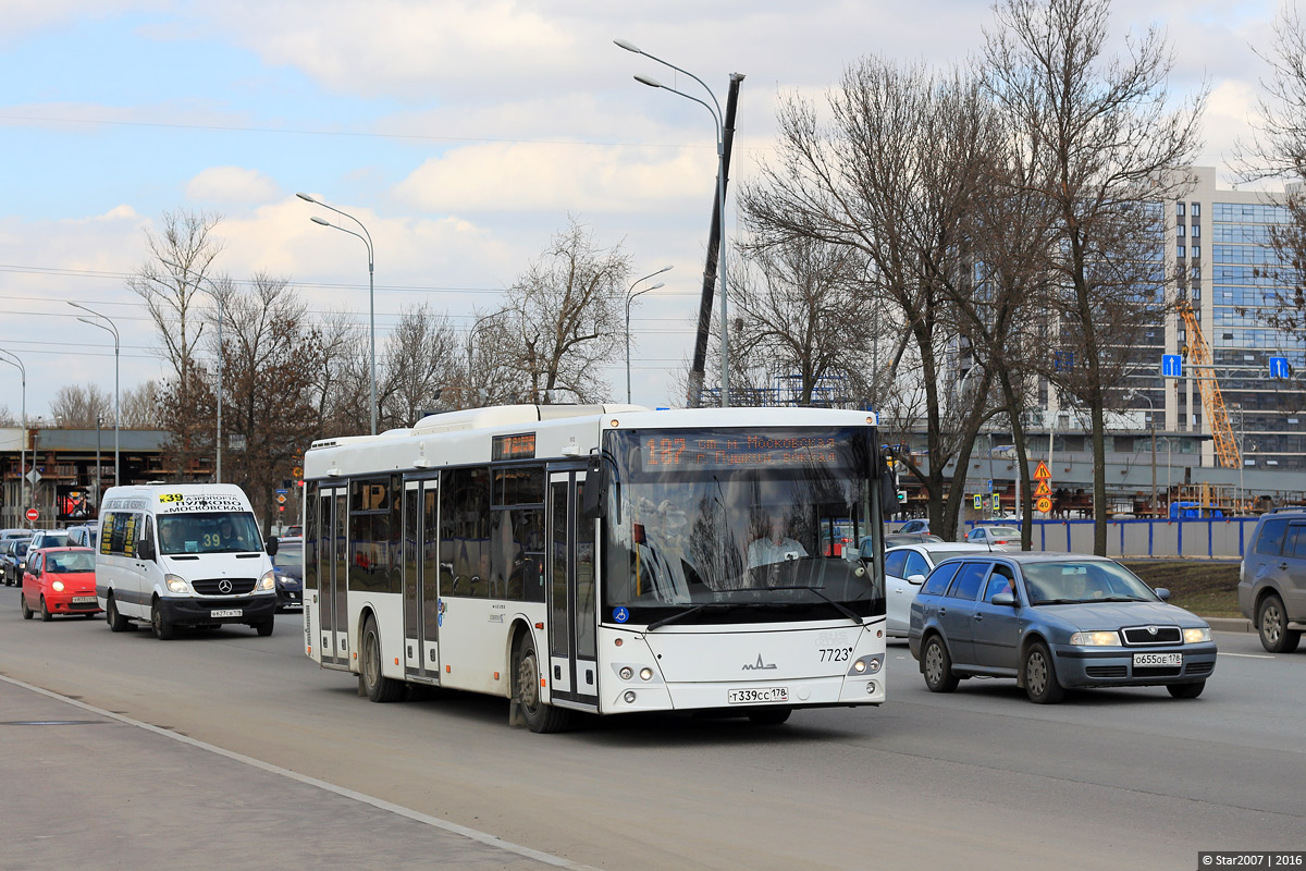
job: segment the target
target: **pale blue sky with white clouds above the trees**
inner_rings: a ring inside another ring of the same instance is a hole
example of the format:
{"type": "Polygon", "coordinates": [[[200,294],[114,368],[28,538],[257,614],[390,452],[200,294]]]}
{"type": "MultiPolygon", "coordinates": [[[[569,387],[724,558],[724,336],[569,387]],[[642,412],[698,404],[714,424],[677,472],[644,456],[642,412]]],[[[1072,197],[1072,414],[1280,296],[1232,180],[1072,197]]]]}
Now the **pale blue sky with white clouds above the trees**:
{"type": "MultiPolygon", "coordinates": [[[[1157,24],[1171,90],[1211,87],[1203,165],[1228,176],[1280,4],[1130,0],[1117,46],[1157,24]]],[[[166,210],[223,215],[222,272],[289,278],[317,311],[367,319],[360,242],[310,222],[307,191],[376,245],[377,345],[405,306],[460,329],[498,308],[568,214],[636,277],[666,286],[632,319],[633,400],[677,401],[692,347],[714,196],[712,119],[639,85],[693,82],[622,51],[629,40],[741,89],[733,179],[773,141],[777,98],[819,99],[863,55],[951,64],[991,26],[980,0],[0,0],[0,349],[27,370],[30,419],[65,384],[124,389],[162,373],[153,324],[125,287],[166,210]]],[[[727,210],[734,223],[733,208],[727,210]]],[[[326,217],[330,217],[329,214],[326,217]]],[[[849,312],[850,317],[857,316],[849,312]]],[[[624,400],[624,364],[609,373],[624,400]]],[[[0,366],[14,415],[17,370],[0,366]]]]}

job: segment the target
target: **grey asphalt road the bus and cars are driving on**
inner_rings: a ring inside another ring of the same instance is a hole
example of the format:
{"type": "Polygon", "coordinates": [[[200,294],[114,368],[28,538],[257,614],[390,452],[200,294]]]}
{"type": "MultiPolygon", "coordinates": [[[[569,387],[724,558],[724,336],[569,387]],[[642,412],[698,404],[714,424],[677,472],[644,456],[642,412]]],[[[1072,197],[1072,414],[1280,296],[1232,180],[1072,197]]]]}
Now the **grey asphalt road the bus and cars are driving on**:
{"type": "MultiPolygon", "coordinates": [[[[1011,682],[990,680],[931,695],[906,646],[892,645],[892,701],[879,709],[797,712],[778,727],[605,718],[534,735],[509,729],[498,699],[367,703],[350,678],[303,656],[298,616],[278,618],[268,639],[242,627],[161,642],[146,631],[112,635],[102,620],[24,622],[17,599],[0,588],[4,676],[293,772],[299,780],[185,747],[185,770],[222,765],[185,781],[221,797],[210,803],[279,797],[293,837],[316,853],[289,840],[278,846],[269,832],[255,855],[287,868],[308,867],[310,855],[316,867],[353,867],[359,847],[341,832],[367,838],[374,829],[384,832],[375,854],[383,866],[424,855],[461,867],[449,858],[456,850],[422,846],[434,834],[482,867],[622,870],[1194,868],[1199,850],[1306,849],[1306,649],[1268,656],[1251,635],[1217,633],[1216,674],[1191,701],[1151,688],[1037,706],[1011,682]],[[265,777],[294,789],[259,786],[265,777]],[[387,814],[402,819],[374,819],[387,814]],[[486,836],[458,841],[458,827],[486,836]]],[[[16,692],[0,692],[0,705],[13,706],[16,692]]],[[[30,705],[33,693],[21,692],[30,705]]],[[[42,716],[55,717],[47,708],[60,704],[40,696],[42,716]]],[[[65,717],[94,714],[71,708],[65,717]]],[[[30,759],[34,729],[0,725],[0,759],[30,759]]],[[[61,742],[69,733],[38,734],[61,742]]],[[[168,743],[146,734],[149,747],[168,743]]],[[[0,776],[20,784],[25,807],[46,812],[33,819],[71,799],[99,807],[121,782],[136,782],[90,773],[112,764],[101,756],[116,756],[106,748],[123,740],[98,738],[65,759],[46,753],[47,770],[56,769],[48,777],[21,761],[0,763],[0,776]],[[88,764],[85,777],[69,776],[72,760],[88,764]]],[[[133,774],[150,782],[148,767],[133,774]]],[[[118,825],[128,842],[137,827],[158,829],[154,814],[136,810],[118,825]]],[[[3,867],[42,855],[14,838],[22,829],[13,823],[0,840],[3,867]]],[[[197,824],[192,837],[232,849],[219,829],[197,824]]],[[[103,855],[88,841],[85,863],[103,855]]]]}

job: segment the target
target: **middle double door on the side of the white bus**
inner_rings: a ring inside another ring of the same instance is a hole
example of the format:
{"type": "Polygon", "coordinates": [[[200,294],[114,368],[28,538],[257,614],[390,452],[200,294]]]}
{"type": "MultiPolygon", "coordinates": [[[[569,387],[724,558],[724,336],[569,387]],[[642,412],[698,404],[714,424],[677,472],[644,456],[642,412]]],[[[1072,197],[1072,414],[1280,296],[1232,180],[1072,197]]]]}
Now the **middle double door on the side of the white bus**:
{"type": "Polygon", "coordinates": [[[439,682],[439,478],[404,483],[404,674],[439,682]]]}

